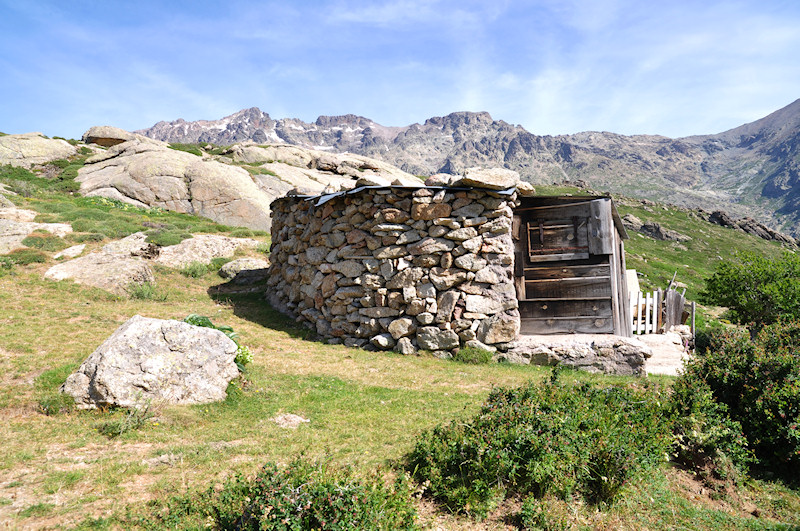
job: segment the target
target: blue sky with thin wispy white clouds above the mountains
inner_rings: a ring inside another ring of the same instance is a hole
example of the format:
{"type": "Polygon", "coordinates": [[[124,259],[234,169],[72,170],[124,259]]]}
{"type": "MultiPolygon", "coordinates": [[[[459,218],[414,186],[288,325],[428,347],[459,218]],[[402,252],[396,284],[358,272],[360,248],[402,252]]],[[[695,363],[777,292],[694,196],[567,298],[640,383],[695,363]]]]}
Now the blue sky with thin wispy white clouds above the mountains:
{"type": "Polygon", "coordinates": [[[535,134],[717,133],[800,98],[800,2],[0,0],[0,131],[257,106],[535,134]]]}

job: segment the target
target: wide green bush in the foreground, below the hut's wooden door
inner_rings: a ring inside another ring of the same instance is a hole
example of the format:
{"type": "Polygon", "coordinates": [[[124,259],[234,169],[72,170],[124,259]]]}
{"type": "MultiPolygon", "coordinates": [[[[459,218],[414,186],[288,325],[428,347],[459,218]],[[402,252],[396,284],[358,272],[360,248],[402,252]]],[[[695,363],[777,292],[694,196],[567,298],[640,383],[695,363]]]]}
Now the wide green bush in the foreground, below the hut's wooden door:
{"type": "Polygon", "coordinates": [[[496,389],[472,419],[425,432],[407,467],[450,510],[476,516],[515,494],[611,502],[664,460],[659,395],[556,381],[496,389]]]}

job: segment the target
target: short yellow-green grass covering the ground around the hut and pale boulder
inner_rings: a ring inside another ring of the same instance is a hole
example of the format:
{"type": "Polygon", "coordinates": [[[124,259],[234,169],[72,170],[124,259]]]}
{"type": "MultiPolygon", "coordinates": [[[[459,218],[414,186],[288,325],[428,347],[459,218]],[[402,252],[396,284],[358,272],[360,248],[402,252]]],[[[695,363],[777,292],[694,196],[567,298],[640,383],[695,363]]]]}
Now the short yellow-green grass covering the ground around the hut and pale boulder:
{"type": "MultiPolygon", "coordinates": [[[[28,206],[60,217],[70,210],[63,205],[74,201],[40,197],[28,206]]],[[[627,208],[621,207],[621,213],[627,208]]],[[[690,285],[690,293],[696,292],[699,284],[693,279],[709,272],[716,260],[709,249],[730,252],[739,242],[762,245],[685,213],[630,211],[643,220],[667,224],[664,220],[673,219],[674,225],[667,225],[680,232],[708,231],[689,242],[685,254],[672,254],[669,243],[631,240],[629,264],[654,285],[666,284],[672,271],[684,265],[680,259],[686,258],[694,275],[684,268],[686,274],[678,278],[690,285]],[[660,260],[655,259],[657,253],[660,260]]],[[[132,223],[141,223],[136,216],[144,214],[130,215],[135,218],[132,223]]],[[[158,222],[196,223],[168,216],[158,222]]],[[[764,249],[778,251],[775,246],[764,249]]],[[[267,460],[287,462],[299,453],[328,454],[362,471],[390,465],[411,448],[420,431],[474,412],[492,386],[517,385],[548,374],[537,367],[469,366],[313,342],[306,330],[257,296],[215,295],[213,288],[221,280],[211,273],[194,279],[157,271],[157,282],[167,295],[159,302],[119,299],[69,282],[45,281],[42,274],[52,263],[49,258],[45,264],[15,266],[0,277],[0,521],[12,527],[70,527],[81,522],[119,526],[117,519],[128,507],[139,510],[148,499],[206,488],[234,471],[252,472],[267,460]],[[95,427],[119,417],[119,412],[48,417],[36,411],[41,394],[52,391],[132,315],[181,319],[189,313],[232,325],[253,350],[248,384],[238,398],[210,406],[163,408],[143,429],[116,440],[101,436],[95,427]],[[311,422],[297,430],[282,429],[270,421],[279,413],[298,414],[311,422]],[[167,464],[154,463],[157,457],[167,464]]],[[[620,380],[577,373],[570,377],[620,380]]],[[[736,496],[720,493],[712,498],[679,473],[666,470],[632,485],[625,501],[611,509],[565,506],[564,511],[591,527],[762,529],[772,526],[770,517],[800,523],[800,498],[760,482],[736,496]],[[767,519],[742,513],[742,500],[752,500],[767,519]]],[[[505,525],[501,517],[475,524],[424,512],[427,522],[445,528],[505,525]]]]}

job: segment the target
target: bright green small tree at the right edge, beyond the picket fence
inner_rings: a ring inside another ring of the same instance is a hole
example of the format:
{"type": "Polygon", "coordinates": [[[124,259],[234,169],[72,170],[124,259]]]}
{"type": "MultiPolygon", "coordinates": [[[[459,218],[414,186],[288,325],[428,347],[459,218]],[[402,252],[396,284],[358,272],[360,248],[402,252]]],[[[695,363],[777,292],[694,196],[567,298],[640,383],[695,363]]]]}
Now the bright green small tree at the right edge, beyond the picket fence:
{"type": "Polygon", "coordinates": [[[706,279],[700,299],[728,307],[732,320],[742,324],[760,327],[780,318],[800,319],[800,256],[785,252],[769,258],[738,252],[706,279]]]}

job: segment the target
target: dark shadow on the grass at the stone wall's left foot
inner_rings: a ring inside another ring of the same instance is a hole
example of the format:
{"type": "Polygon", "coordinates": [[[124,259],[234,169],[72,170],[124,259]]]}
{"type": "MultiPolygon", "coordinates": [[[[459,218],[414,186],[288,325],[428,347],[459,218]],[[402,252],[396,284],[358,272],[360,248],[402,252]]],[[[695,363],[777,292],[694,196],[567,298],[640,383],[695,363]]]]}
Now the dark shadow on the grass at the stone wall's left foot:
{"type": "Polygon", "coordinates": [[[317,339],[313,330],[298,325],[294,319],[274,309],[264,298],[263,292],[237,293],[230,291],[231,287],[233,285],[230,282],[212,286],[208,289],[208,295],[212,300],[230,306],[237,317],[272,330],[285,332],[293,338],[317,339]]]}

